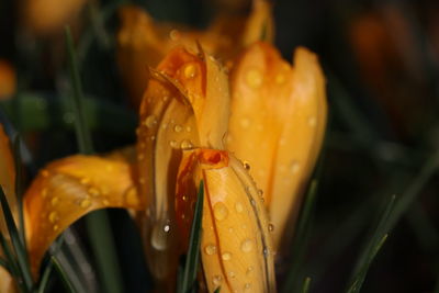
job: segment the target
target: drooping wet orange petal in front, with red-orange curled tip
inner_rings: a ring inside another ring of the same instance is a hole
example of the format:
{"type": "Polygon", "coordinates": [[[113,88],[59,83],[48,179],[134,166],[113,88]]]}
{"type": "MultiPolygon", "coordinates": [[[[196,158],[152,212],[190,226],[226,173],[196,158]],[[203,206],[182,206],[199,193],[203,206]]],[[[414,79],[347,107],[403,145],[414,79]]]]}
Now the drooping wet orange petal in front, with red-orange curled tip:
{"type": "Polygon", "coordinates": [[[243,164],[224,150],[184,151],[176,209],[188,234],[204,180],[202,263],[209,292],[275,292],[268,214],[243,164]]]}

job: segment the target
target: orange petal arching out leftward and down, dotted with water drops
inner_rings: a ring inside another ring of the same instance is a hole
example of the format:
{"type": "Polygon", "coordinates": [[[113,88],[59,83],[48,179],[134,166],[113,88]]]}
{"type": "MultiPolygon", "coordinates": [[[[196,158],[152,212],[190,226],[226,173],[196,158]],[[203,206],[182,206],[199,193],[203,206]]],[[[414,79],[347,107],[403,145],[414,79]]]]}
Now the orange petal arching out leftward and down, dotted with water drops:
{"type": "Polygon", "coordinates": [[[105,207],[144,210],[135,171],[121,159],[79,155],[40,171],[24,198],[32,271],[38,271],[55,238],[87,213],[105,207]]]}

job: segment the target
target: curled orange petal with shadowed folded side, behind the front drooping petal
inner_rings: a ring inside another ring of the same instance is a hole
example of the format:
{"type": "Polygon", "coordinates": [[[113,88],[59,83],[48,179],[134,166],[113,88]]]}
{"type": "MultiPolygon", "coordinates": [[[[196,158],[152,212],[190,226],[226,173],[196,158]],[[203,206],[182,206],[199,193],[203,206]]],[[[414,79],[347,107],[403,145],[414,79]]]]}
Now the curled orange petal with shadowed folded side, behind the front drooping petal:
{"type": "Polygon", "coordinates": [[[159,280],[177,268],[173,201],[181,151],[223,146],[228,103],[227,76],[204,53],[178,47],[150,70],[140,106],[137,158],[140,192],[147,199],[145,250],[159,280]]]}

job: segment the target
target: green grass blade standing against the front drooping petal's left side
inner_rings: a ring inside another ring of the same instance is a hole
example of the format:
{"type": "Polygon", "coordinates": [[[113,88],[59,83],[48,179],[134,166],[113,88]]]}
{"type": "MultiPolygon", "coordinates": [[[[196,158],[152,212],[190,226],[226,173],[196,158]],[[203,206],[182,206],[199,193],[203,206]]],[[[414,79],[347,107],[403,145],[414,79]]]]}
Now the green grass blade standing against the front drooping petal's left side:
{"type": "Polygon", "coordinates": [[[201,244],[201,224],[203,216],[203,202],[204,202],[204,183],[200,182],[195,211],[189,237],[189,249],[184,266],[183,281],[181,285],[181,293],[191,292],[196,280],[196,272],[200,260],[200,244],[201,244]]]}

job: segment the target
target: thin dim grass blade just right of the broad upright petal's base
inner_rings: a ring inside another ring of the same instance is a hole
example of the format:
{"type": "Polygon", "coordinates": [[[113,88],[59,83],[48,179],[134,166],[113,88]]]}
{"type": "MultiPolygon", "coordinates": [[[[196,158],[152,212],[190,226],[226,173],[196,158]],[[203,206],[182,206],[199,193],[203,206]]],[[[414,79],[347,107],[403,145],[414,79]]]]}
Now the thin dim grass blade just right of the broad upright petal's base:
{"type": "Polygon", "coordinates": [[[317,185],[318,185],[317,180],[314,179],[311,181],[308,191],[305,196],[305,202],[303,204],[301,214],[299,216],[297,230],[294,235],[292,245],[292,251],[293,251],[292,259],[294,259],[294,262],[290,267],[290,271],[286,275],[286,281],[282,289],[282,292],[284,293],[293,292],[297,283],[297,272],[301,267],[303,258],[302,255],[304,246],[307,240],[308,228],[311,225],[311,214],[315,206],[315,195],[317,191],[317,185]]]}

